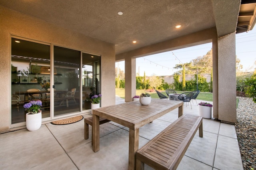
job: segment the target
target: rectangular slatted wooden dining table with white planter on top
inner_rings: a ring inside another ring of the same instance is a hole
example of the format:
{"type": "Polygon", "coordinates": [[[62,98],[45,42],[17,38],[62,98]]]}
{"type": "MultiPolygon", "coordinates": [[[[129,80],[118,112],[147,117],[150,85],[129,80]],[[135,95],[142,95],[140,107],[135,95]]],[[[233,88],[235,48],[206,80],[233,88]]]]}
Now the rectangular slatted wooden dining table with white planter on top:
{"type": "Polygon", "coordinates": [[[136,167],[136,151],[139,149],[139,128],[178,108],[178,117],[183,114],[183,102],[151,99],[149,105],[139,101],[101,107],[92,110],[92,150],[100,150],[100,117],[129,128],[129,170],[136,167]]]}

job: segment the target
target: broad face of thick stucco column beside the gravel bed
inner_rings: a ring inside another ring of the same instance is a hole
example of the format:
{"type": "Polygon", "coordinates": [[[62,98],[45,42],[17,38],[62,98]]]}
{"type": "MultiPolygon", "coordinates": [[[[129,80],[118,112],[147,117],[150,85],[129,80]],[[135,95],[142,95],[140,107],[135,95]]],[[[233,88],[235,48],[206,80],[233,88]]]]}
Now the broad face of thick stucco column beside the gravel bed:
{"type": "MultiPolygon", "coordinates": [[[[214,89],[215,90],[215,89],[214,89]]],[[[214,100],[216,102],[216,99],[214,100]]],[[[236,34],[218,38],[218,119],[236,123],[236,34]]],[[[215,105],[215,104],[214,104],[215,105]]],[[[215,107],[215,106],[214,106],[215,107]]]]}

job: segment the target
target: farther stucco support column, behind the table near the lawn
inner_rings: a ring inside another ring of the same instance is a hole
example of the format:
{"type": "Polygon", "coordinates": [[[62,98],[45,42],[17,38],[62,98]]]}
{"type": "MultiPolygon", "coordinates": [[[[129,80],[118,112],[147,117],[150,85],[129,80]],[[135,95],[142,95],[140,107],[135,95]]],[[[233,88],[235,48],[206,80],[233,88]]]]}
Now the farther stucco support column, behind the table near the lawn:
{"type": "Polygon", "coordinates": [[[130,102],[136,95],[136,58],[126,57],[124,66],[125,102],[130,102]]]}

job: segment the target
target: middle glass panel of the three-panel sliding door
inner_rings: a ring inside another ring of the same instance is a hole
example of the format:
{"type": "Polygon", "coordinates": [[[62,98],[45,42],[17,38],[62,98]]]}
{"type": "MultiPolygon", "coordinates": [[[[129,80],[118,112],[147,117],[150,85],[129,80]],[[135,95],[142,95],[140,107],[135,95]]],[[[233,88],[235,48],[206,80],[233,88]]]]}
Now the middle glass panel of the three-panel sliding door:
{"type": "Polygon", "coordinates": [[[54,46],[54,116],[80,111],[80,51],[54,46]]]}

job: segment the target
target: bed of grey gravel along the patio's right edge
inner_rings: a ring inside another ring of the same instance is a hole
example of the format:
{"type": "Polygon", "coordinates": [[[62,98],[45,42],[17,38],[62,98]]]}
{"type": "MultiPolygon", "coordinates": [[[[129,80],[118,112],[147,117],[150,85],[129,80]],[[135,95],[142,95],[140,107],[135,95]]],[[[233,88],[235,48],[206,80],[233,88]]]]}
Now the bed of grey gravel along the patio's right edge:
{"type": "Polygon", "coordinates": [[[244,170],[256,170],[256,103],[252,98],[237,98],[235,127],[244,170]]]}

